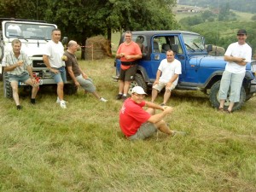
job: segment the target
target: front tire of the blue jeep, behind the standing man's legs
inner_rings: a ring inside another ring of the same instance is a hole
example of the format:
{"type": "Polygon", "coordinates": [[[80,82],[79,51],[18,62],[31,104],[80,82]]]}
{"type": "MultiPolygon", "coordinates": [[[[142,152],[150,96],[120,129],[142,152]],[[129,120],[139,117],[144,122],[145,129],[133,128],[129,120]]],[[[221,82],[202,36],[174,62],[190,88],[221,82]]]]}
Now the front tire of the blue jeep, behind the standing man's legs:
{"type": "MultiPolygon", "coordinates": [[[[219,100],[218,100],[218,90],[219,90],[220,81],[217,81],[215,84],[212,85],[211,91],[210,91],[210,102],[212,104],[213,108],[219,107],[219,100]]],[[[228,98],[226,99],[226,102],[224,103],[224,108],[228,108],[230,102],[229,102],[230,94],[228,94],[228,98]]],[[[246,91],[243,86],[241,86],[240,91],[240,102],[236,102],[233,111],[239,110],[244,102],[246,101],[246,91]]]]}

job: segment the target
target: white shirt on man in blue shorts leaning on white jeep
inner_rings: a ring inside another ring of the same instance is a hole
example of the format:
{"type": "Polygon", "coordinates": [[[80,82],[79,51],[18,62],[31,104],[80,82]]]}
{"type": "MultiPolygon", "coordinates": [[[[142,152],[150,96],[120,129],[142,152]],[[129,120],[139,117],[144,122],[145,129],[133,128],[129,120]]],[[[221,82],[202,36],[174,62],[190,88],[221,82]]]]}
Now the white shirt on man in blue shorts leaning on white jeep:
{"type": "Polygon", "coordinates": [[[64,54],[64,47],[61,42],[56,44],[54,41],[50,40],[46,44],[44,50],[44,55],[48,55],[50,67],[60,68],[65,66],[65,61],[62,61],[61,57],[64,54]]]}

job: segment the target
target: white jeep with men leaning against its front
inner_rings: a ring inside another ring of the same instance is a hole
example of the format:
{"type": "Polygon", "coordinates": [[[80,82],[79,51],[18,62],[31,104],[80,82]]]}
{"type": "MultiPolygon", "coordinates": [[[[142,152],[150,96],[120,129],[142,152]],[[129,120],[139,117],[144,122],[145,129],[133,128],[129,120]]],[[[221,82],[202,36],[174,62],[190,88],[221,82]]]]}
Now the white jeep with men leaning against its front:
{"type": "MultiPolygon", "coordinates": [[[[3,72],[2,60],[4,52],[12,49],[11,42],[18,38],[21,41],[21,49],[32,60],[33,76],[38,79],[40,85],[55,84],[48,68],[44,65],[43,53],[46,43],[51,39],[51,32],[57,28],[55,24],[49,24],[38,20],[0,19],[0,79],[3,79],[4,96],[12,97],[12,89],[9,84],[8,73],[3,72]]],[[[63,38],[67,39],[67,38],[63,38]]],[[[19,83],[20,86],[26,84],[19,83]]],[[[66,94],[74,94],[77,87],[72,81],[65,84],[66,94]]]]}

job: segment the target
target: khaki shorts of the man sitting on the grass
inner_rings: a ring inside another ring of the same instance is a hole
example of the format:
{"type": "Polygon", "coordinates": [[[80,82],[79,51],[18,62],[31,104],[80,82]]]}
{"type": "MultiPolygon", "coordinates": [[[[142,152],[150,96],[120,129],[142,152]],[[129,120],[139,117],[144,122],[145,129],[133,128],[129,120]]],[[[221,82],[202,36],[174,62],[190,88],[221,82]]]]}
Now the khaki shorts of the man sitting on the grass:
{"type": "Polygon", "coordinates": [[[128,137],[129,140],[143,140],[152,136],[157,131],[153,123],[143,123],[133,136],[128,137]]]}

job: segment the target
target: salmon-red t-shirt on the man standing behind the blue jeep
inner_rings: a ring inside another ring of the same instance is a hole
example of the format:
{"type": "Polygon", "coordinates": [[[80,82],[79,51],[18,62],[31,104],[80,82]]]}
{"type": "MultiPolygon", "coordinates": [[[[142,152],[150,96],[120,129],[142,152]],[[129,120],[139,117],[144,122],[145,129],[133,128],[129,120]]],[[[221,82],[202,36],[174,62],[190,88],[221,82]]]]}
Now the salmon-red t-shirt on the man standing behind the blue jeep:
{"type": "MultiPolygon", "coordinates": [[[[125,42],[119,45],[119,49],[117,50],[117,54],[125,53],[125,55],[142,55],[142,50],[139,45],[135,42],[131,42],[131,44],[126,45],[125,42]]],[[[120,58],[120,61],[135,61],[134,59],[126,60],[125,56],[120,58]]],[[[121,65],[123,70],[129,68],[130,66],[121,65]]]]}

